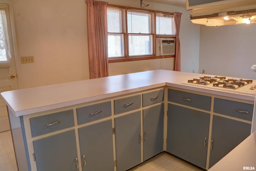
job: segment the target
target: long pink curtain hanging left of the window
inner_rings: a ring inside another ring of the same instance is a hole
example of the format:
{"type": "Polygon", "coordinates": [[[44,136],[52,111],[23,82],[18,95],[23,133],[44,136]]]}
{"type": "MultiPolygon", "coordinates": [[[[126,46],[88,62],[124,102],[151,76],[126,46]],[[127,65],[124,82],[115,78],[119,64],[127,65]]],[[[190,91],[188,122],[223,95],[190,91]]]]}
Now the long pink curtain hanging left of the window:
{"type": "Polygon", "coordinates": [[[108,76],[108,2],[86,0],[90,78],[108,76]]]}

